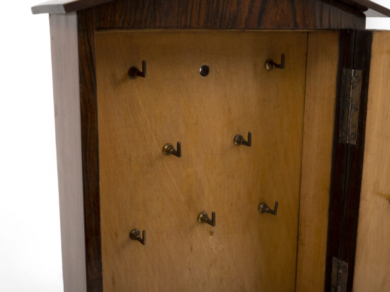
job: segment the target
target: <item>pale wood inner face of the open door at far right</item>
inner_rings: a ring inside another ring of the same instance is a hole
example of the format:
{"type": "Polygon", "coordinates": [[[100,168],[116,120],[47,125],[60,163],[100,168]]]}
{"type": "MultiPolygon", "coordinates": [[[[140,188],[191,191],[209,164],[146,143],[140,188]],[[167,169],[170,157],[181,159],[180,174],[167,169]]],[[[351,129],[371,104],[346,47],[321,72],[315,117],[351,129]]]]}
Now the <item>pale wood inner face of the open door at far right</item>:
{"type": "Polygon", "coordinates": [[[390,290],[390,33],[374,32],[356,243],[355,292],[390,290]]]}

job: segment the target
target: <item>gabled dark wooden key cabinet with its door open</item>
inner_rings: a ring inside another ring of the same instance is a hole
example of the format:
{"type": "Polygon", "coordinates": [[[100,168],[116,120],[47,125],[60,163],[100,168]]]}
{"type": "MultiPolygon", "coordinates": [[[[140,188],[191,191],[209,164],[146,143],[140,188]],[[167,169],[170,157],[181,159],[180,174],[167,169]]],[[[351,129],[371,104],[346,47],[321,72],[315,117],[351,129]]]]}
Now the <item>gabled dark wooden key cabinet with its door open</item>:
{"type": "Polygon", "coordinates": [[[390,33],[363,11],[390,16],[33,7],[50,14],[64,290],[390,291],[390,33]]]}

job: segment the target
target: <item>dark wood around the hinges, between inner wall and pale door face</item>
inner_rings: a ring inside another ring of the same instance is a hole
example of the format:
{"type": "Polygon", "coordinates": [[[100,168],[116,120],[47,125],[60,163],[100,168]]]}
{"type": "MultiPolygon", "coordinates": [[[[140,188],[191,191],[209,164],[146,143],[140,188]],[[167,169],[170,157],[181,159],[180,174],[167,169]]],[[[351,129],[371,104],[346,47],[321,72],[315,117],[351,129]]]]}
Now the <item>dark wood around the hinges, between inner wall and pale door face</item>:
{"type": "Polygon", "coordinates": [[[372,31],[340,32],[325,291],[331,291],[333,257],[340,258],[348,263],[347,292],[352,291],[363,172],[371,46],[372,31]],[[363,70],[359,131],[356,145],[344,144],[338,141],[343,67],[363,70]]]}

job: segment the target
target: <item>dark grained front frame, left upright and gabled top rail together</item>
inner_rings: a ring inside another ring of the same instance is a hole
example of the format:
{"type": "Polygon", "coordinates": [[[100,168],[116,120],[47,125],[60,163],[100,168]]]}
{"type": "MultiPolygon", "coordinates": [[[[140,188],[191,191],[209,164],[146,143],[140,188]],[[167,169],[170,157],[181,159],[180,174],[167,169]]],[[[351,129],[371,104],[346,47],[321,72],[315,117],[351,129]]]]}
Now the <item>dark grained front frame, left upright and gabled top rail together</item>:
{"type": "MultiPolygon", "coordinates": [[[[265,28],[267,18],[260,18],[261,11],[270,11],[272,3],[252,2],[245,11],[233,1],[225,3],[193,2],[193,8],[186,8],[185,4],[160,1],[125,2],[118,1],[108,5],[80,10],[77,13],[79,33],[79,71],[80,71],[80,102],[81,102],[81,135],[82,135],[82,161],[83,161],[83,188],[85,213],[85,242],[86,242],[86,269],[88,290],[100,291],[103,287],[102,251],[100,230],[100,191],[99,191],[99,141],[98,117],[95,83],[95,29],[106,28],[265,28]],[[266,5],[267,4],[267,5],[266,5]],[[168,8],[165,7],[168,5],[168,8]],[[226,6],[227,5],[227,6],[226,6]],[[232,8],[235,6],[238,10],[232,8]],[[214,9],[216,7],[218,9],[214,9]],[[223,9],[222,9],[223,7],[223,9]],[[230,9],[230,17],[223,17],[225,9],[230,9]],[[212,14],[210,14],[212,9],[212,14]],[[252,13],[252,10],[254,11],[252,13]],[[241,16],[238,16],[241,15],[241,16]],[[243,16],[246,20],[237,21],[243,16]],[[217,23],[217,20],[220,22],[217,23]],[[244,25],[244,26],[242,26],[244,25]]],[[[186,2],[187,3],[187,2],[186,2]]],[[[307,3],[307,2],[306,2],[307,3]]],[[[299,27],[306,28],[337,28],[355,27],[364,28],[363,14],[350,8],[329,1],[297,4],[296,21],[299,27]],[[314,9],[314,10],[313,10],[314,9]],[[345,12],[347,14],[345,14],[345,12]],[[332,15],[330,18],[329,15],[332,15]]],[[[281,10],[274,11],[281,14],[272,24],[273,28],[285,26],[284,18],[291,19],[286,13],[288,4],[281,10]]],[[[272,10],[272,9],[271,9],[272,10]]],[[[263,13],[263,12],[262,12],[263,13]]],[[[270,18],[272,21],[272,17],[270,18]]],[[[295,24],[294,24],[295,25],[295,24]]],[[[291,26],[289,22],[288,27],[291,26]]],[[[272,28],[269,27],[269,28],[272,28]]]]}

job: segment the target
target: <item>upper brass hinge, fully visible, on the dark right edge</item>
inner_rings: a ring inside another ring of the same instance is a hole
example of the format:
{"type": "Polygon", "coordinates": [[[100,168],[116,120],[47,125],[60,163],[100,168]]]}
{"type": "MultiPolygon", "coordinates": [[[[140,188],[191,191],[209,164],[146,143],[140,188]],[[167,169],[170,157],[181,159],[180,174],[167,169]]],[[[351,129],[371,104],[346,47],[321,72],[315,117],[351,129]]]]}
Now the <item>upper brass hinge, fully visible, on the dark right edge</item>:
{"type": "Polygon", "coordinates": [[[356,145],[360,96],[362,91],[362,70],[343,69],[341,80],[340,142],[356,145]]]}

